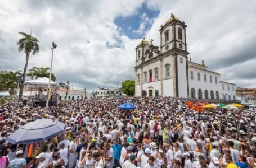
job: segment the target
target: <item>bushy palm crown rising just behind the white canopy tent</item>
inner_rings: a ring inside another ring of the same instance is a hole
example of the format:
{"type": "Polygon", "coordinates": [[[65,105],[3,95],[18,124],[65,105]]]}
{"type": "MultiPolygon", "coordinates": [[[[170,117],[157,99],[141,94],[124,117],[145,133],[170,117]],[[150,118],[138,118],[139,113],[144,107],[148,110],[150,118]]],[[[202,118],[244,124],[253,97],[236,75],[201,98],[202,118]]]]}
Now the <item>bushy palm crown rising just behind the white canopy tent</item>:
{"type": "MultiPolygon", "coordinates": [[[[36,79],[37,78],[43,78],[43,77],[49,78],[49,76],[50,76],[50,73],[48,72],[49,70],[50,70],[50,68],[44,68],[44,67],[37,68],[37,67],[33,67],[33,68],[29,69],[29,73],[27,73],[26,76],[32,78],[32,80],[33,80],[33,77],[35,77],[36,79]]],[[[54,76],[53,73],[51,74],[51,80],[53,82],[56,81],[56,77],[54,76]]]]}

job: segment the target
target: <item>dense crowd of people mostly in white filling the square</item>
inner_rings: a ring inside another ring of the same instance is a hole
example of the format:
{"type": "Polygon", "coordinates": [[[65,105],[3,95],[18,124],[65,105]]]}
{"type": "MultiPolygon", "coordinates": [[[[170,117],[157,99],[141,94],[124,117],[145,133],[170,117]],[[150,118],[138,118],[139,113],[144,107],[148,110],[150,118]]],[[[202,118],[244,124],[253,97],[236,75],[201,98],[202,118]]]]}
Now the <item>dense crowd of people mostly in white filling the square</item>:
{"type": "Polygon", "coordinates": [[[256,167],[255,110],[199,113],[175,97],[62,100],[57,107],[0,108],[0,168],[252,168],[256,167]],[[130,102],[135,110],[121,110],[130,102]],[[45,142],[6,141],[28,122],[66,124],[45,142]]]}

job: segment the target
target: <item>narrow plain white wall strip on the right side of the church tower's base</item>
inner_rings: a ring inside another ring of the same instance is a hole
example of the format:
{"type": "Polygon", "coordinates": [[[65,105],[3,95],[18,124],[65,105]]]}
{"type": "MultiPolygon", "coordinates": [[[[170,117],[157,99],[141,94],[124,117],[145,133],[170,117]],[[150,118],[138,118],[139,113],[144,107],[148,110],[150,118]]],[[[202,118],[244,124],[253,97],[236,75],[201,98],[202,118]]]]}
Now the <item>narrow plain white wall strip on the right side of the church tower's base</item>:
{"type": "Polygon", "coordinates": [[[179,86],[179,97],[187,97],[187,69],[186,59],[181,55],[177,58],[178,65],[178,86],[179,86]],[[181,60],[182,59],[182,60],[181,60]]]}

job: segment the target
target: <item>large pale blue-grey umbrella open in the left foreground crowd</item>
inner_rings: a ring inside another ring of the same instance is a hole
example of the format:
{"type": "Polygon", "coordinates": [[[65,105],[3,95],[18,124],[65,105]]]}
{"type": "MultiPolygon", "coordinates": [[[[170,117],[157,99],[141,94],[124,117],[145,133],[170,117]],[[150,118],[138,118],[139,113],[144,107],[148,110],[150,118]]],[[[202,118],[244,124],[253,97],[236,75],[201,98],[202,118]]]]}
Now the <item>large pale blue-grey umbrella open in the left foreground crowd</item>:
{"type": "Polygon", "coordinates": [[[46,139],[63,133],[65,128],[66,124],[61,123],[58,120],[37,120],[23,125],[21,128],[8,136],[6,141],[13,144],[43,142],[46,139]]]}

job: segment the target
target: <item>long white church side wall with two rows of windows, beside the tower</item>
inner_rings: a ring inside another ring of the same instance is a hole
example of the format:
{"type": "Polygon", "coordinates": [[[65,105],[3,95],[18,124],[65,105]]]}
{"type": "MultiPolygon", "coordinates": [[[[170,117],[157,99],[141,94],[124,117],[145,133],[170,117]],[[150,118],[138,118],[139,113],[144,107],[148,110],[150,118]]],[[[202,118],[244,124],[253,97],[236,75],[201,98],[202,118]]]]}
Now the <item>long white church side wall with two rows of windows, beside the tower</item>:
{"type": "Polygon", "coordinates": [[[221,85],[219,83],[219,75],[216,73],[211,73],[204,71],[203,69],[188,67],[188,79],[189,79],[189,91],[191,97],[191,89],[195,89],[195,96],[198,97],[198,90],[202,91],[202,99],[205,99],[205,90],[208,91],[208,99],[210,99],[210,91],[214,93],[214,99],[216,98],[216,91],[219,92],[219,99],[221,99],[221,85]],[[193,71],[193,79],[191,79],[191,71],[193,71]],[[200,81],[198,80],[197,73],[200,73],[200,81]],[[204,81],[204,74],[206,74],[206,82],[204,81]],[[212,76],[212,83],[210,82],[210,76],[212,76]],[[215,83],[215,77],[217,77],[217,84],[215,83]]]}

